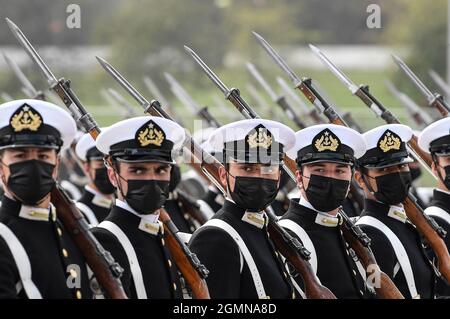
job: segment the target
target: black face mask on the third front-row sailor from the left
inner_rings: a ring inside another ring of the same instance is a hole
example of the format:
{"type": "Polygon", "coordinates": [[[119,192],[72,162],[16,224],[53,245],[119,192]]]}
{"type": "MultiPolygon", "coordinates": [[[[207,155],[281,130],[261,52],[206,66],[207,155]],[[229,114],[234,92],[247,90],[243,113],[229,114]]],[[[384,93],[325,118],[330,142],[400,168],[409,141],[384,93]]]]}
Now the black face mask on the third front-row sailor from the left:
{"type": "Polygon", "coordinates": [[[278,180],[262,177],[234,177],[231,198],[239,207],[251,212],[260,212],[277,197],[278,180]]]}

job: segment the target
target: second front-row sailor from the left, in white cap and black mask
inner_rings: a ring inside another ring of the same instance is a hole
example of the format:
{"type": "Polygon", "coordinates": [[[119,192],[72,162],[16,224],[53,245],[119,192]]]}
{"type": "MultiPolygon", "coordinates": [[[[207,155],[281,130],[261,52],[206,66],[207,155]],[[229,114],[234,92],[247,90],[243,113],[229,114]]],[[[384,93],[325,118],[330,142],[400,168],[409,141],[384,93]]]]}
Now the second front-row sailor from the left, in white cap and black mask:
{"type": "Polygon", "coordinates": [[[169,196],[172,150],[184,137],[177,123],[142,116],[108,127],[96,140],[96,147],[108,156],[117,199],[93,232],[124,268],[121,280],[130,298],[182,296],[159,210],[169,196]]]}

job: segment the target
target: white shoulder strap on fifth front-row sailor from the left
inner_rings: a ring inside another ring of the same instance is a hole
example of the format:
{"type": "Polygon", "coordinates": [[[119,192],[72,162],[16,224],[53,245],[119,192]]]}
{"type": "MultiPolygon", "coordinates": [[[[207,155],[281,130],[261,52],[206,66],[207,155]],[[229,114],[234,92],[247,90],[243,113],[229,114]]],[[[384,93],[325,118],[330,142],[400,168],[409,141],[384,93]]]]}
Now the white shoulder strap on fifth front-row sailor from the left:
{"type": "Polygon", "coordinates": [[[361,217],[356,224],[372,226],[381,231],[387,237],[392,245],[392,248],[394,249],[395,256],[397,257],[397,261],[400,264],[403,274],[405,275],[411,297],[413,299],[420,298],[420,295],[417,293],[414,273],[411,268],[408,254],[406,253],[405,247],[403,247],[403,244],[397,235],[395,235],[394,232],[390,230],[389,227],[387,227],[383,222],[371,216],[361,217]]]}

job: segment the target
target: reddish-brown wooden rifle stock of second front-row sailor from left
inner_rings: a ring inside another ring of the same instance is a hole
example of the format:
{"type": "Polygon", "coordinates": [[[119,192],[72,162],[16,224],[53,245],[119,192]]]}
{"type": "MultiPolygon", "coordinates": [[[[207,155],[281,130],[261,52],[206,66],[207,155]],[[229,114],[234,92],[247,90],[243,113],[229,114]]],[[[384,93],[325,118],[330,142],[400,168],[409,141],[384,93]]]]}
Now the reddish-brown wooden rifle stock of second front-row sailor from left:
{"type": "MultiPolygon", "coordinates": [[[[177,237],[177,228],[170,219],[169,214],[164,210],[159,210],[159,219],[164,224],[165,238],[167,240],[167,246],[169,247],[172,257],[183,275],[189,287],[192,289],[192,293],[196,299],[210,299],[208,285],[204,278],[202,278],[198,270],[192,265],[192,262],[187,258],[187,254],[192,254],[186,245],[181,242],[177,237]]],[[[196,258],[196,257],[195,257],[196,258]]]]}

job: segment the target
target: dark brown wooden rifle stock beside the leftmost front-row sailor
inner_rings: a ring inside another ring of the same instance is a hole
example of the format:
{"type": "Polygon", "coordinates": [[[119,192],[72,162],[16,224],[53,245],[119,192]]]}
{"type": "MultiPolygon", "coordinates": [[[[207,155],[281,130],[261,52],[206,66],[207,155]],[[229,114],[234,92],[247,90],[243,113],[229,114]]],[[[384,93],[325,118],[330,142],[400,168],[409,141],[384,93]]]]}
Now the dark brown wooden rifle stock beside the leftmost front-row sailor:
{"type": "Polygon", "coordinates": [[[68,230],[106,294],[113,299],[127,299],[119,279],[123,270],[92,235],[89,225],[75,204],[58,186],[51,191],[51,202],[56,208],[58,218],[68,230]]]}

